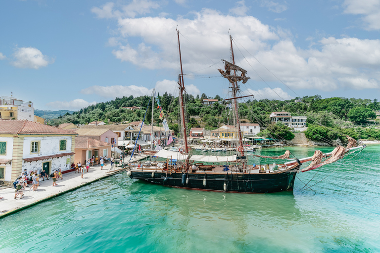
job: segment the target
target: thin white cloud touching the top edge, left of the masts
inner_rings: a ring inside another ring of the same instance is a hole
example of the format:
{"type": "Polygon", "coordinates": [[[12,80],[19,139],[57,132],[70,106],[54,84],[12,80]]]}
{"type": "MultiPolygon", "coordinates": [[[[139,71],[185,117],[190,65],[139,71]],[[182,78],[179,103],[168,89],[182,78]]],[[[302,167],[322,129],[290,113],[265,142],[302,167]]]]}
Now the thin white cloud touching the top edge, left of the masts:
{"type": "Polygon", "coordinates": [[[150,0],[132,0],[129,4],[118,5],[121,10],[114,9],[115,3],[107,2],[101,8],[93,7],[91,11],[96,14],[98,18],[134,18],[137,15],[150,13],[151,9],[158,9],[160,4],[156,1],[150,0]]]}

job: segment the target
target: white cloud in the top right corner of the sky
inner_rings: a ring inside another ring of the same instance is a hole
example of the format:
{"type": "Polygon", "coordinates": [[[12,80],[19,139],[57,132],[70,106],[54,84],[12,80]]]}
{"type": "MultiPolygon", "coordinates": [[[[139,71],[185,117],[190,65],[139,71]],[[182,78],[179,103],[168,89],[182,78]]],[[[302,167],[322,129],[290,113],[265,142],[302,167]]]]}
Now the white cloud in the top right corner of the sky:
{"type": "Polygon", "coordinates": [[[380,0],[344,0],[344,13],[361,15],[366,30],[380,30],[380,0]]]}

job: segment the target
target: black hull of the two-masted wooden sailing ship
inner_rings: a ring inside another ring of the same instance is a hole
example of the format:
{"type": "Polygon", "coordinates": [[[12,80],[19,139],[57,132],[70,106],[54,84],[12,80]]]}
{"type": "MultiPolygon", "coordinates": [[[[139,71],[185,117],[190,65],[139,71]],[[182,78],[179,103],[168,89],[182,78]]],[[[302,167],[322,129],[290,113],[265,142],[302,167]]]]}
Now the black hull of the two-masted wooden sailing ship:
{"type": "Polygon", "coordinates": [[[177,188],[206,190],[206,191],[224,191],[224,183],[227,185],[226,192],[239,193],[270,193],[292,190],[296,171],[287,171],[283,173],[259,173],[259,174],[242,174],[242,173],[189,173],[189,183],[186,178],[183,180],[183,173],[132,170],[131,178],[144,180],[149,183],[177,188]],[[167,179],[165,180],[165,177],[167,179]],[[206,178],[206,185],[203,180],[206,178]]]}

